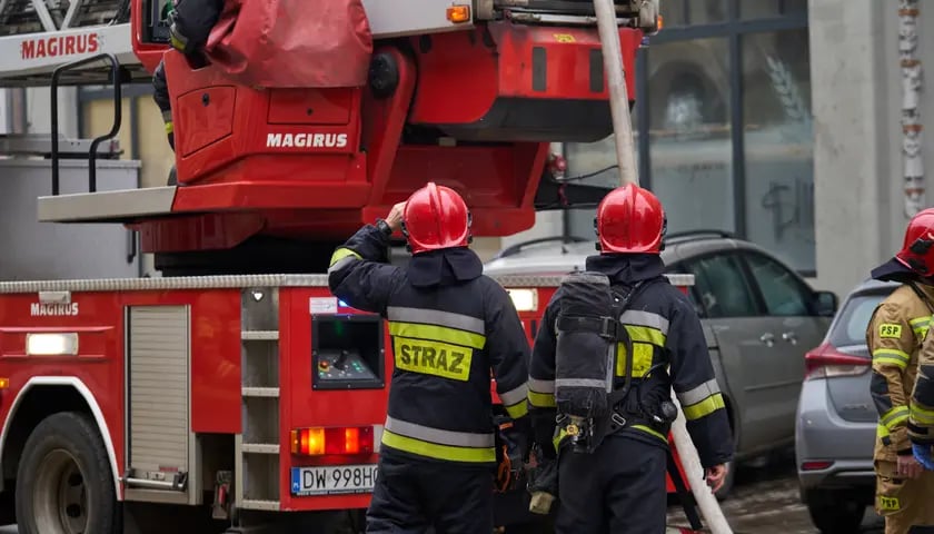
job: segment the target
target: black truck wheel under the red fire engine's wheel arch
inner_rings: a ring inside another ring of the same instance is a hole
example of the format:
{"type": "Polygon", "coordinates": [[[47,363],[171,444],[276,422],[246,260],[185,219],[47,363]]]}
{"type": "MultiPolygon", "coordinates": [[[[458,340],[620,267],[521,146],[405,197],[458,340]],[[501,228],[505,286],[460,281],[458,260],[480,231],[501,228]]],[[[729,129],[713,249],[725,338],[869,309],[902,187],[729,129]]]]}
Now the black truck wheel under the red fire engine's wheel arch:
{"type": "Polygon", "coordinates": [[[17,473],[17,522],[27,534],[119,532],[113,474],[103,441],[82,414],[43,419],[17,473]]]}

